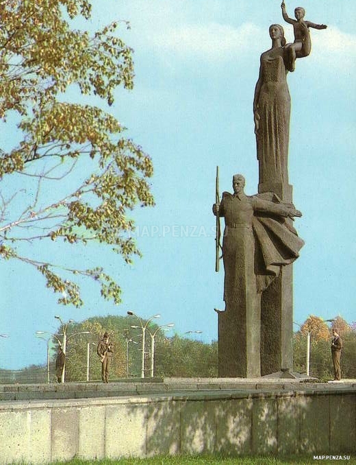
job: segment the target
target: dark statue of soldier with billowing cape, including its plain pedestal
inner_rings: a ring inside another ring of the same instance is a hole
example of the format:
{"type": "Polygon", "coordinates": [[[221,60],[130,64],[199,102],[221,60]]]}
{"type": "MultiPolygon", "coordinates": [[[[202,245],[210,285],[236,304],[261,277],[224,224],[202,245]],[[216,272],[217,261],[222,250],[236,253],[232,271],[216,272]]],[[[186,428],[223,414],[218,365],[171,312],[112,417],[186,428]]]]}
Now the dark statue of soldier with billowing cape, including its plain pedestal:
{"type": "Polygon", "coordinates": [[[225,311],[219,313],[219,375],[259,377],[261,293],[280,268],[298,257],[303,241],[288,218],[301,216],[272,193],[247,196],[244,176],[233,176],[214,215],[225,218],[225,311]]]}

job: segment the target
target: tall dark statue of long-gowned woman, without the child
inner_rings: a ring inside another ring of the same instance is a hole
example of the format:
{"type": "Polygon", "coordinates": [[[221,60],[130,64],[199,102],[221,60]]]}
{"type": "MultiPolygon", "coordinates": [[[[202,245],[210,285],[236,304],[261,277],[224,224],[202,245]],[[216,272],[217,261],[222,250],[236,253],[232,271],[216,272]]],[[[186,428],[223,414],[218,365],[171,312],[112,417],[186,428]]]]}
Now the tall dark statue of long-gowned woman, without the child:
{"type": "Polygon", "coordinates": [[[270,26],[270,38],[272,47],[261,55],[253,100],[259,184],[288,184],[290,93],[287,73],[290,60],[281,25],[270,26]]]}

